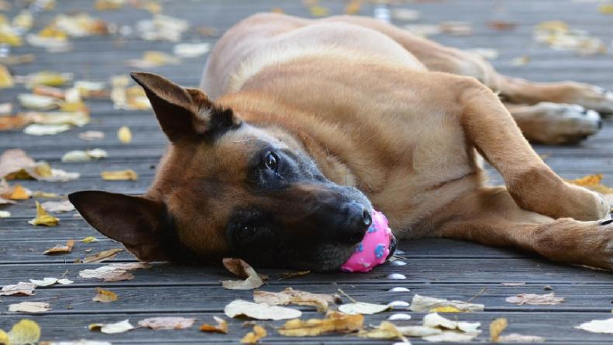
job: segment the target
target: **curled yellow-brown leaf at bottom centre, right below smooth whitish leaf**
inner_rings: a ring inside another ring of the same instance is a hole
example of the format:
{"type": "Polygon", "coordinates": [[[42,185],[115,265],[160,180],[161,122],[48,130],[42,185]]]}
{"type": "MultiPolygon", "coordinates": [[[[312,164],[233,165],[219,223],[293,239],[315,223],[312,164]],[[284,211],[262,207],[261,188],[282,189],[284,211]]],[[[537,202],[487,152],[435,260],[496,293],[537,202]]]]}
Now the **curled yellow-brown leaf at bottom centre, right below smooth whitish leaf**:
{"type": "Polygon", "coordinates": [[[284,336],[318,336],[323,333],[351,333],[362,330],[364,316],[330,311],[326,319],[289,320],[278,331],[284,336]]]}

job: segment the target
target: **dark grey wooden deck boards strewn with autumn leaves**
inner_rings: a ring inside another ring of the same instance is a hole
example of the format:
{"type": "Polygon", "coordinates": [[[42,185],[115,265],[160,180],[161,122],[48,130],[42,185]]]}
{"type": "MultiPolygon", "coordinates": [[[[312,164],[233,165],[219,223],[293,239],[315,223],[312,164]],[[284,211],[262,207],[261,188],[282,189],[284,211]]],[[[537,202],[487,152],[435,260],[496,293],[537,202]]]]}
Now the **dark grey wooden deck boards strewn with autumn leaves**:
{"type": "MultiPolygon", "coordinates": [[[[18,2],[20,3],[20,2],[18,2]]],[[[185,18],[192,27],[213,26],[223,33],[233,23],[259,11],[274,7],[288,14],[310,16],[301,1],[263,0],[207,0],[164,1],[164,14],[185,18]]],[[[344,1],[321,1],[330,8],[331,14],[343,12],[344,1]]],[[[462,48],[495,48],[500,57],[493,64],[502,72],[533,80],[572,79],[594,83],[613,89],[613,56],[611,47],[607,55],[576,56],[572,52],[560,52],[536,44],[532,37],[533,26],[546,20],[563,20],[574,28],[587,29],[596,37],[611,45],[613,39],[613,16],[598,13],[600,2],[570,0],[465,0],[465,1],[416,1],[395,7],[419,10],[422,14],[417,23],[436,24],[441,21],[469,21],[474,32],[468,37],[453,37],[446,34],[432,38],[444,44],[462,48]],[[489,21],[511,21],[517,28],[510,31],[495,31],[489,21]],[[528,55],[526,66],[514,66],[512,59],[528,55]]],[[[14,6],[8,13],[17,13],[14,6]]],[[[95,17],[121,25],[134,25],[135,21],[148,18],[143,10],[126,6],[120,11],[97,12],[93,1],[58,0],[56,10],[37,15],[36,26],[42,25],[58,13],[86,10],[95,17]]],[[[364,4],[360,11],[372,15],[373,8],[364,4]]],[[[183,42],[215,42],[215,37],[206,38],[190,32],[183,42]]],[[[119,44],[113,37],[88,37],[72,39],[74,50],[66,53],[45,53],[44,48],[13,48],[13,53],[35,53],[36,62],[12,66],[13,74],[28,74],[44,69],[73,72],[75,80],[108,80],[115,74],[125,74],[131,68],[125,61],[139,58],[145,50],[172,52],[171,43],[145,42],[129,37],[119,44]]],[[[182,85],[195,86],[199,82],[204,58],[185,59],[177,66],[166,66],[151,71],[163,74],[182,85]]],[[[17,103],[21,87],[1,90],[0,103],[17,103]]],[[[47,160],[54,168],[77,171],[80,179],[64,184],[26,181],[25,187],[67,194],[82,189],[104,189],[123,193],[142,193],[153,178],[154,168],[164,148],[165,139],[149,111],[114,110],[110,101],[89,101],[93,122],[82,129],[71,130],[57,136],[26,136],[21,131],[0,133],[0,152],[9,148],[24,149],[36,160],[47,160]],[[134,140],[121,144],[116,131],[122,126],[131,128],[134,140]],[[77,134],[85,130],[103,131],[105,139],[95,142],[82,141],[77,134]],[[88,163],[62,163],[63,153],[76,149],[100,147],[109,152],[109,158],[88,163]],[[105,182],[99,172],[112,169],[134,169],[140,175],[136,182],[105,182]]],[[[563,177],[580,177],[585,174],[603,173],[604,182],[613,184],[613,121],[608,120],[597,136],[575,147],[537,147],[540,153],[549,154],[547,163],[563,177]]],[[[496,177],[493,177],[496,180],[496,177]]],[[[202,333],[194,325],[188,330],[153,331],[145,328],[117,334],[104,335],[89,331],[94,322],[116,322],[130,319],[136,325],[139,320],[158,316],[195,317],[197,324],[212,322],[212,316],[222,316],[224,306],[235,298],[251,300],[251,291],[225,290],[219,280],[229,279],[230,274],[221,268],[194,268],[185,266],[154,265],[148,270],[135,271],[135,279],[121,282],[99,282],[97,279],[82,279],[78,271],[96,268],[103,264],[76,264],[83,258],[86,249],[99,252],[118,248],[116,242],[104,239],[85,221],[74,217],[73,212],[61,214],[59,227],[32,227],[27,223],[34,216],[34,200],[3,207],[12,212],[12,217],[0,220],[0,285],[16,284],[28,279],[43,277],[67,277],[71,285],[39,287],[32,297],[2,297],[0,300],[0,329],[7,330],[20,319],[36,320],[42,327],[42,340],[104,340],[113,344],[179,344],[179,343],[237,343],[249,328],[243,320],[229,320],[228,335],[202,333]],[[67,239],[82,239],[97,236],[101,240],[91,244],[77,242],[71,254],[47,256],[44,250],[62,244],[67,239]],[[113,303],[92,301],[95,287],[112,290],[120,297],[113,303]],[[51,311],[44,314],[25,315],[8,312],[7,305],[21,301],[45,301],[51,311]]],[[[493,249],[465,242],[424,240],[400,244],[408,265],[394,267],[388,264],[368,274],[309,274],[293,279],[278,280],[284,271],[259,270],[270,274],[268,291],[280,291],[285,287],[308,292],[337,293],[343,289],[360,301],[388,303],[392,300],[410,301],[414,294],[469,300],[484,303],[485,312],[452,315],[459,320],[482,322],[483,333],[476,339],[489,339],[488,325],[497,317],[506,317],[509,327],[506,333],[544,336],[552,344],[604,344],[613,343],[613,336],[598,335],[573,327],[593,319],[612,317],[613,276],[609,272],[555,265],[539,257],[514,250],[493,249]],[[391,280],[390,273],[405,274],[406,279],[391,280]],[[524,286],[508,287],[501,282],[525,282],[524,286]],[[504,298],[517,293],[547,293],[549,285],[566,302],[554,306],[516,306],[504,298]],[[387,292],[392,287],[406,287],[411,292],[387,292]],[[481,293],[479,293],[481,292],[481,293]]],[[[125,252],[113,262],[131,262],[134,257],[125,252]]],[[[312,308],[300,308],[303,319],[319,317],[312,308]]],[[[367,324],[378,324],[392,312],[367,316],[367,324]]],[[[409,324],[421,324],[422,314],[410,312],[409,324]]],[[[226,317],[224,317],[226,318],[226,317]]],[[[227,319],[227,318],[226,318],[227,319]]],[[[284,338],[276,333],[280,322],[260,322],[268,328],[269,336],[264,343],[376,343],[356,336],[326,335],[316,338],[284,338]]],[[[422,344],[421,339],[411,339],[422,344]]],[[[390,343],[381,341],[380,343],[390,343]]]]}

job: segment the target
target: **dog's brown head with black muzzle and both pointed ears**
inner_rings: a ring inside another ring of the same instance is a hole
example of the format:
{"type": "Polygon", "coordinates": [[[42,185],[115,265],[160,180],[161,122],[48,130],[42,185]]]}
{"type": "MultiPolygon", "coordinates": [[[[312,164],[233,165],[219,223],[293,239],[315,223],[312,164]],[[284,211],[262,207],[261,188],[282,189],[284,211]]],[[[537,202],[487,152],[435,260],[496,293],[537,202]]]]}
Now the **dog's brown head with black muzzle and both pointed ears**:
{"type": "Polygon", "coordinates": [[[70,201],[97,230],[141,260],[219,262],[329,271],[371,223],[368,199],[333,184],[303,145],[259,127],[200,90],[134,73],[170,140],[144,196],[99,191],[70,201]]]}

